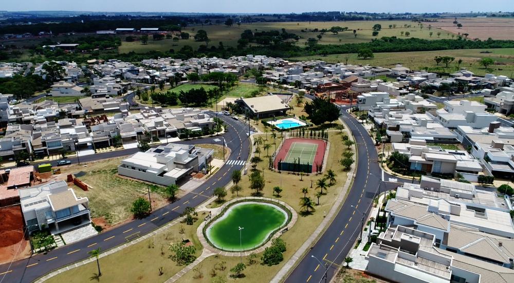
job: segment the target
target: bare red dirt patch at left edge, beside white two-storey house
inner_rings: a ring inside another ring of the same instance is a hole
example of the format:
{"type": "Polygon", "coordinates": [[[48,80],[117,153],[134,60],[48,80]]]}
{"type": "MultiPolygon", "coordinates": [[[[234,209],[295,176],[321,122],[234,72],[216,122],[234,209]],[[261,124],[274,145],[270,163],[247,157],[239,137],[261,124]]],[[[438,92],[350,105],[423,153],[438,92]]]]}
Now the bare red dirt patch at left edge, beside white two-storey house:
{"type": "Polygon", "coordinates": [[[22,210],[19,205],[0,208],[0,263],[30,255],[24,238],[22,210]]]}

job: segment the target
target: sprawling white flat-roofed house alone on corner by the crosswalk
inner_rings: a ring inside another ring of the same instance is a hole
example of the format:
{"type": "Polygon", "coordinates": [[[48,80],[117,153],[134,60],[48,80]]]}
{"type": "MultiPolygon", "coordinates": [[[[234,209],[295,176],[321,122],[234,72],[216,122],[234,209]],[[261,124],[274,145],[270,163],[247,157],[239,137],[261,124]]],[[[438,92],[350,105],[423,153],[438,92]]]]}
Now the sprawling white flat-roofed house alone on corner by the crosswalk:
{"type": "Polygon", "coordinates": [[[214,150],[168,144],[125,158],[118,174],[162,186],[176,184],[191,172],[204,171],[214,150]]]}

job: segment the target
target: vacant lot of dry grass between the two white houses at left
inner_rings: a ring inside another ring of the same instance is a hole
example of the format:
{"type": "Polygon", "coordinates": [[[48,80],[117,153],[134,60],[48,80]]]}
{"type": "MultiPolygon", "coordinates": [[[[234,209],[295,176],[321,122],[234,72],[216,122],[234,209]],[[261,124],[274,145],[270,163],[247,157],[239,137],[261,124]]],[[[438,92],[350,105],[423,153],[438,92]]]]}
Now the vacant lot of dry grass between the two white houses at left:
{"type": "MultiPolygon", "coordinates": [[[[102,162],[88,163],[87,167],[71,165],[61,167],[61,174],[54,178],[63,180],[67,174],[74,174],[92,188],[83,191],[70,185],[77,197],[87,197],[91,209],[91,218],[96,224],[106,226],[124,222],[132,218],[130,207],[139,197],[148,197],[147,184],[119,176],[117,166],[124,157],[111,158],[102,162]]],[[[168,203],[167,199],[157,192],[151,193],[152,207],[161,207],[168,203]]]]}

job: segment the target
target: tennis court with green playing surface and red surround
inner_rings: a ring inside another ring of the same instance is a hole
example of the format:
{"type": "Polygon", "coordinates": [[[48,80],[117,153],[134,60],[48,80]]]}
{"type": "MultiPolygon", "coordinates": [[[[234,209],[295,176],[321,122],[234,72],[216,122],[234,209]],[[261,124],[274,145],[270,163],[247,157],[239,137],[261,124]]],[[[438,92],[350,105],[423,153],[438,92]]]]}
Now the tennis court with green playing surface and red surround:
{"type": "Polygon", "coordinates": [[[288,138],[277,152],[275,168],[293,172],[316,172],[323,164],[326,142],[313,138],[288,138]]]}

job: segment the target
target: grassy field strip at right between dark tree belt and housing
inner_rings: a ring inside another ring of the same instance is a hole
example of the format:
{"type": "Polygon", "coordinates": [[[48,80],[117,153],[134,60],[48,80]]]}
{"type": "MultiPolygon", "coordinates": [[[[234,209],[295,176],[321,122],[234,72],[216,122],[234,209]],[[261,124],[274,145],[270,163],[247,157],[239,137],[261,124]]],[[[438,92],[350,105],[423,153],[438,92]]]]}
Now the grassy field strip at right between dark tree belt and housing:
{"type": "Polygon", "coordinates": [[[403,66],[411,69],[422,69],[428,67],[429,70],[437,72],[453,73],[458,70],[457,61],[462,59],[460,67],[468,68],[475,75],[483,76],[486,73],[495,75],[505,75],[512,77],[514,73],[514,48],[497,48],[497,49],[458,49],[458,50],[438,50],[438,51],[416,51],[416,52],[384,52],[375,53],[373,59],[359,59],[357,54],[332,54],[325,57],[322,56],[304,56],[289,58],[290,60],[323,60],[329,63],[345,62],[348,56],[348,64],[363,64],[382,67],[394,67],[395,64],[403,64],[403,66]],[[481,51],[490,51],[491,53],[481,53],[481,51]],[[444,64],[436,65],[435,56],[451,56],[455,61],[448,68],[444,64]],[[478,61],[482,58],[489,57],[497,62],[493,66],[489,66],[486,70],[478,61]]]}

